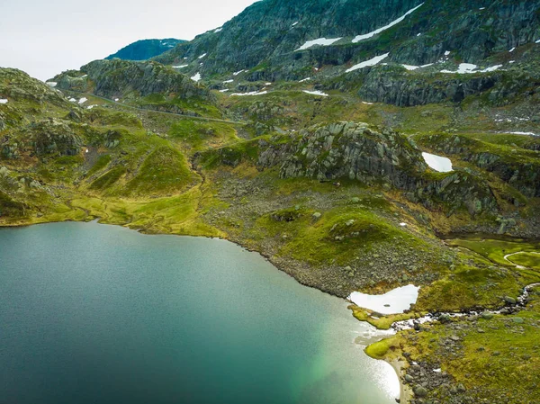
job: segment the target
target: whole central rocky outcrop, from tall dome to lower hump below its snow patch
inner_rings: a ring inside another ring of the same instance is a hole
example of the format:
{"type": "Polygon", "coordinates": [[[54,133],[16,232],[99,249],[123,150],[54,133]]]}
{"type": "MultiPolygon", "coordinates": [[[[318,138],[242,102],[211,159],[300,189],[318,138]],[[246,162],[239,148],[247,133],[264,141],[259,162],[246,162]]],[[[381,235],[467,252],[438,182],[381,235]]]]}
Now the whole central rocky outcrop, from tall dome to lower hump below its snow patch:
{"type": "MultiPolygon", "coordinates": [[[[472,170],[431,173],[419,148],[393,130],[374,130],[365,123],[336,122],[302,130],[298,135],[259,140],[257,167],[279,167],[283,178],[320,181],[355,180],[403,191],[411,202],[452,215],[498,211],[490,185],[472,170]]],[[[221,162],[237,166],[241,154],[227,148],[221,162]]],[[[253,151],[250,152],[253,154],[253,151]]]]}

